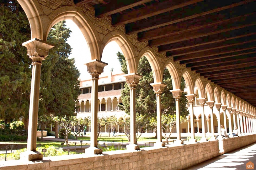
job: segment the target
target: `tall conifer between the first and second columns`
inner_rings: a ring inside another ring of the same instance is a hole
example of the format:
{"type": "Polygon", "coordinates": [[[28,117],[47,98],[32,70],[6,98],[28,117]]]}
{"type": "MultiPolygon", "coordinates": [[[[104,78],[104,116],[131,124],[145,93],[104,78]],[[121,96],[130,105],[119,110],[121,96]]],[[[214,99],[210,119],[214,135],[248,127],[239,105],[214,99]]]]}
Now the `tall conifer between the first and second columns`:
{"type": "MultiPolygon", "coordinates": [[[[47,41],[55,45],[43,61],[40,88],[40,114],[54,114],[59,117],[74,115],[79,90],[80,73],[74,58],[69,59],[72,48],[66,43],[71,31],[66,21],[58,22],[50,31],[47,41]]],[[[56,138],[58,136],[55,124],[56,138]]]]}

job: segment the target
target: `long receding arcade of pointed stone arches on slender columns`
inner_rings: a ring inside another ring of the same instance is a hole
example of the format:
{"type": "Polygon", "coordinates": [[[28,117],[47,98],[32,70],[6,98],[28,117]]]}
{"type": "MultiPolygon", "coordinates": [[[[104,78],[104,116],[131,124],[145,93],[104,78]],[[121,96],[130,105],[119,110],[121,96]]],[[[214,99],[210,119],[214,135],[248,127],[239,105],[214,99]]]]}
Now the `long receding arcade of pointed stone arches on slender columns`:
{"type": "MultiPolygon", "coordinates": [[[[44,10],[44,6],[37,0],[18,0],[24,9],[31,27],[31,40],[24,42],[23,45],[28,49],[28,55],[32,59],[32,79],[31,79],[31,96],[29,108],[29,132],[28,132],[28,151],[24,154],[28,160],[42,159],[36,150],[36,130],[38,118],[38,101],[40,89],[40,71],[42,60],[48,56],[49,50],[54,47],[54,44],[47,42],[47,36],[51,28],[59,21],[71,19],[77,24],[82,31],[90,49],[91,62],[86,63],[88,72],[92,76],[92,97],[91,97],[91,146],[87,152],[94,154],[102,153],[102,150],[97,148],[97,114],[98,114],[98,79],[103,73],[104,66],[107,63],[101,62],[101,55],[107,43],[115,41],[121,48],[127,63],[128,74],[125,75],[126,82],[130,86],[130,117],[131,117],[131,144],[127,149],[137,150],[135,138],[135,88],[141,78],[137,74],[139,60],[145,56],[150,63],[153,71],[154,83],[152,88],[156,93],[157,98],[157,143],[155,146],[162,147],[162,130],[161,130],[161,93],[165,84],[163,84],[163,71],[168,69],[173,83],[173,97],[176,101],[176,117],[177,117],[177,140],[176,143],[182,144],[180,140],[180,121],[179,121],[179,99],[182,91],[180,90],[181,78],[183,77],[186,83],[189,101],[190,117],[196,115],[194,113],[195,106],[195,87],[198,90],[198,98],[201,105],[202,120],[211,118],[211,132],[213,133],[213,113],[218,119],[218,130],[220,133],[221,113],[227,116],[228,122],[231,121],[233,115],[233,125],[239,126],[242,134],[255,133],[255,115],[256,110],[253,106],[246,103],[240,98],[237,98],[232,93],[216,86],[205,78],[198,77],[184,66],[173,62],[171,58],[166,58],[163,54],[158,53],[156,49],[148,47],[147,44],[138,42],[136,37],[128,36],[124,33],[122,27],[112,27],[109,29],[104,27],[107,20],[97,20],[92,13],[82,11],[80,8],[75,8],[72,5],[60,6],[56,9],[44,10]],[[105,22],[105,23],[104,23],[105,22]],[[208,105],[206,106],[205,103],[208,105]],[[209,107],[211,113],[205,113],[205,108],[209,107]],[[217,109],[217,112],[215,111],[217,109]],[[226,113],[227,111],[227,113],[226,113]],[[205,117],[206,116],[206,117],[205,117]],[[206,119],[205,119],[206,118],[206,119]],[[239,119],[239,121],[238,121],[239,119]],[[237,120],[237,121],[236,121],[237,120]],[[239,123],[238,123],[239,122],[239,123]]],[[[88,57],[82,56],[81,57],[88,57]]],[[[225,119],[226,120],[226,119],[225,119]]],[[[231,129],[231,122],[228,123],[231,129]]],[[[191,141],[196,142],[194,132],[194,118],[190,119],[191,126],[191,141]]],[[[204,126],[204,125],[203,125],[204,126]]],[[[203,128],[205,129],[205,128],[203,128]]],[[[208,128],[209,131],[209,128],[208,128]]],[[[219,135],[221,136],[221,135],[219,135]]],[[[203,132],[205,138],[205,132],[203,132]]]]}

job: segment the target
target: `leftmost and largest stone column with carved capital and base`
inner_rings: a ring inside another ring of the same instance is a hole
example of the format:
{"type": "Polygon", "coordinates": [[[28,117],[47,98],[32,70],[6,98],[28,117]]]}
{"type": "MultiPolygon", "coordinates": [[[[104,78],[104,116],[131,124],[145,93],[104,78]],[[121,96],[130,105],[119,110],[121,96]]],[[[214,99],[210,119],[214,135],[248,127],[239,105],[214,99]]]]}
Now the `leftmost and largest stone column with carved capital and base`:
{"type": "Polygon", "coordinates": [[[39,89],[42,61],[48,56],[52,44],[34,38],[22,44],[27,47],[27,54],[32,59],[32,78],[29,103],[29,126],[27,151],[20,154],[20,159],[35,161],[42,160],[43,155],[36,151],[36,132],[38,119],[39,89]]]}

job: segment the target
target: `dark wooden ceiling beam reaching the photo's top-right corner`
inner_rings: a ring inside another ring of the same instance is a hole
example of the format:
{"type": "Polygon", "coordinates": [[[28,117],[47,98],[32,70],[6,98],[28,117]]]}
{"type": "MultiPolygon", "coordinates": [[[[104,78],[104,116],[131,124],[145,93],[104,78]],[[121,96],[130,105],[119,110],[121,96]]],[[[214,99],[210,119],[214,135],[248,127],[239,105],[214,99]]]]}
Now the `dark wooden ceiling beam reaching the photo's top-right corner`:
{"type": "MultiPolygon", "coordinates": [[[[150,29],[163,27],[166,25],[170,25],[177,22],[186,21],[189,19],[193,19],[196,17],[204,16],[207,14],[211,14],[214,12],[219,12],[222,10],[226,10],[229,8],[234,8],[243,4],[247,4],[249,2],[253,2],[254,0],[246,0],[238,3],[229,4],[227,6],[221,6],[221,4],[213,5],[213,9],[207,11],[207,6],[195,6],[193,9],[191,7],[184,7],[182,10],[179,10],[179,12],[171,11],[171,12],[165,12],[156,16],[153,16],[149,19],[142,19],[139,21],[136,21],[135,23],[128,23],[125,25],[125,32],[127,34],[132,33],[138,33],[142,31],[147,31],[150,29]],[[219,8],[218,8],[219,5],[219,8]],[[203,12],[202,12],[203,11],[203,12]],[[182,15],[181,15],[182,14],[182,15]],[[159,19],[161,18],[161,19],[159,19]]],[[[212,2],[214,3],[214,2],[212,2]]],[[[224,1],[223,1],[224,3],[224,1]]],[[[229,3],[229,2],[225,2],[229,3]]],[[[206,4],[207,5],[207,4],[206,4]]],[[[209,5],[209,4],[208,4],[209,5]]]]}

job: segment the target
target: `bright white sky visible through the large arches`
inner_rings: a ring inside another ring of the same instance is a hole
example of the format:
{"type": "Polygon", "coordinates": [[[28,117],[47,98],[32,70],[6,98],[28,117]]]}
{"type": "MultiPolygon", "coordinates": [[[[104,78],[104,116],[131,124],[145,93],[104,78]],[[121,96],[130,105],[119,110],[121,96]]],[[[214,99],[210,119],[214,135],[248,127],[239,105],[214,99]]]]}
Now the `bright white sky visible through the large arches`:
{"type": "MultiPolygon", "coordinates": [[[[88,44],[77,25],[72,20],[66,20],[67,28],[72,31],[70,38],[67,39],[67,43],[70,44],[72,53],[69,58],[75,58],[76,67],[80,71],[81,80],[88,78],[90,75],[87,72],[87,67],[84,65],[91,60],[91,54],[88,44]]],[[[111,68],[114,68],[114,72],[118,72],[121,69],[121,65],[117,59],[116,53],[121,51],[119,45],[116,42],[110,42],[106,45],[102,54],[102,61],[108,63],[108,66],[104,67],[104,73],[109,72],[111,68]]]]}

